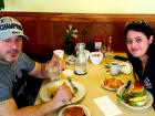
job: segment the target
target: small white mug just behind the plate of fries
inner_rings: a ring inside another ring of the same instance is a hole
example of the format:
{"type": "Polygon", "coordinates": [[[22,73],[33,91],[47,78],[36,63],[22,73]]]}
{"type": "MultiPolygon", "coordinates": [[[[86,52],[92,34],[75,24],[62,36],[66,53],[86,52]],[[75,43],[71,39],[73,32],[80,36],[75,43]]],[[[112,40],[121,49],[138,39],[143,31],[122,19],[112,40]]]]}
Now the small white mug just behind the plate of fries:
{"type": "Polygon", "coordinates": [[[118,63],[111,63],[110,73],[114,76],[118,75],[121,71],[121,66],[118,63]]]}

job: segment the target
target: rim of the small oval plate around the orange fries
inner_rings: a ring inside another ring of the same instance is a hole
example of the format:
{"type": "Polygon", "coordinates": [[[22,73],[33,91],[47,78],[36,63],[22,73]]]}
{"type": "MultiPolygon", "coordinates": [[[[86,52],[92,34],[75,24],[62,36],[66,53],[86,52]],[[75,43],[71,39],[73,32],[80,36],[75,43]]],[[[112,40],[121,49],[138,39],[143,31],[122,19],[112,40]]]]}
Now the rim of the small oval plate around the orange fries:
{"type": "MultiPolygon", "coordinates": [[[[111,78],[114,78],[114,77],[110,77],[110,80],[111,80],[111,78]]],[[[121,78],[114,78],[114,80],[121,81],[123,84],[120,85],[118,87],[110,87],[110,86],[105,86],[105,84],[104,84],[104,81],[105,81],[105,80],[108,80],[108,77],[102,80],[100,84],[101,84],[101,86],[102,86],[103,88],[108,89],[108,91],[117,91],[117,88],[118,88],[120,86],[124,85],[124,83],[125,83],[125,82],[124,82],[123,80],[121,80],[121,78]]]]}

